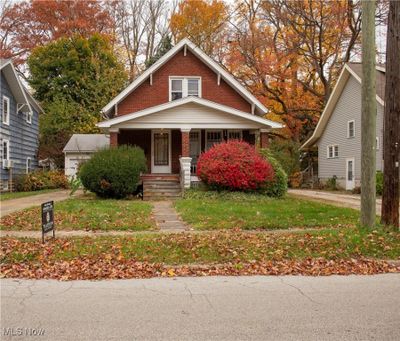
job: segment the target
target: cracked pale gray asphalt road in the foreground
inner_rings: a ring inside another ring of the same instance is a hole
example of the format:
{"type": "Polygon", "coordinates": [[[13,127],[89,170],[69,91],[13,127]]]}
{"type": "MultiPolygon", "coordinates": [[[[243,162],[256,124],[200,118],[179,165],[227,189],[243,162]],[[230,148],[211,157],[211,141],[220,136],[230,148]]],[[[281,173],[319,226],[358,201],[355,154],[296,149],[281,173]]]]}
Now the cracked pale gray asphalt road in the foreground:
{"type": "Polygon", "coordinates": [[[400,274],[2,279],[1,313],[2,340],[400,340],[400,274]]]}

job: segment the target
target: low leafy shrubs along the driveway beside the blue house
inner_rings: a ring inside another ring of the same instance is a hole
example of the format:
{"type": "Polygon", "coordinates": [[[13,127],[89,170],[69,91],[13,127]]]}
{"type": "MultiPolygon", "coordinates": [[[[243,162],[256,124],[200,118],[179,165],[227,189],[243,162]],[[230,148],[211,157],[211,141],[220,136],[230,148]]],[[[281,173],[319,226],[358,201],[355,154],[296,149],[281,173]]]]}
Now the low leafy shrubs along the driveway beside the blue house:
{"type": "Polygon", "coordinates": [[[18,192],[39,191],[42,189],[68,188],[67,177],[62,171],[35,171],[19,176],[15,180],[18,192]]]}

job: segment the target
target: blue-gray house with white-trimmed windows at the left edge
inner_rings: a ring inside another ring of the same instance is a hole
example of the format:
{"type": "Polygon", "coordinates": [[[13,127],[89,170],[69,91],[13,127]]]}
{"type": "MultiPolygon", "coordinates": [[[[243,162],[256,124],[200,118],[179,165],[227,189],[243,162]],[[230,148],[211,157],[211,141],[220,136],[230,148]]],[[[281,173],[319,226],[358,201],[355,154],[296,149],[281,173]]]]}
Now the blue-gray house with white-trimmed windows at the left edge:
{"type": "Polygon", "coordinates": [[[0,191],[16,176],[38,167],[39,104],[19,79],[11,60],[0,59],[0,191]]]}

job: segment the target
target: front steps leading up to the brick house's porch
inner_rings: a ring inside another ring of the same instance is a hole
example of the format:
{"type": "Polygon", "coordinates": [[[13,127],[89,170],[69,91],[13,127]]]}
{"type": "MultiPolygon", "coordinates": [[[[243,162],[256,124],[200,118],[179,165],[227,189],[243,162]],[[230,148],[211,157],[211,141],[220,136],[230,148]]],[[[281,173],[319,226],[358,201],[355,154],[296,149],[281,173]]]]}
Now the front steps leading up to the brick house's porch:
{"type": "Polygon", "coordinates": [[[178,174],[142,175],[143,200],[174,200],[182,197],[178,174]]]}

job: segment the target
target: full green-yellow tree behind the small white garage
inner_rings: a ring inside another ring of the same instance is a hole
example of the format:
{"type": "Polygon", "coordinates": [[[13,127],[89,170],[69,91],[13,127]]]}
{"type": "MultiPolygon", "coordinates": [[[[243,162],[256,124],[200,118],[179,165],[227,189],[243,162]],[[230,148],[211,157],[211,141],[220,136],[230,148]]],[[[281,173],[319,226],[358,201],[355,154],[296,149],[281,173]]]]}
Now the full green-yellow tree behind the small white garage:
{"type": "Polygon", "coordinates": [[[126,85],[124,67],[110,42],[95,34],[60,38],[35,48],[29,59],[29,84],[41,101],[41,157],[62,166],[62,148],[73,133],[92,133],[101,109],[126,85]]]}

